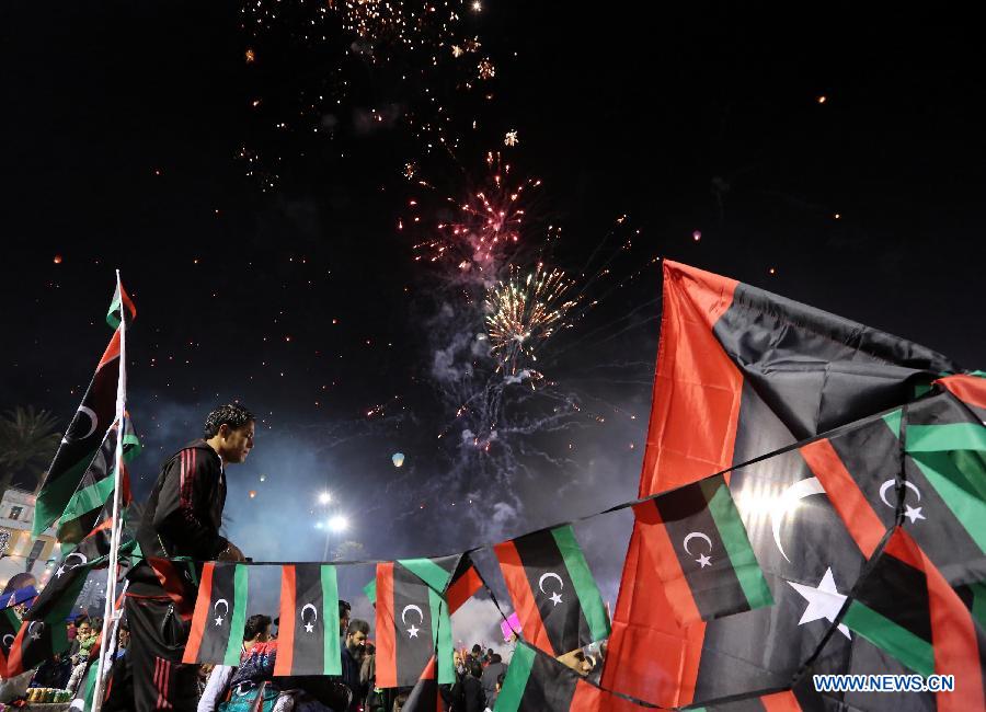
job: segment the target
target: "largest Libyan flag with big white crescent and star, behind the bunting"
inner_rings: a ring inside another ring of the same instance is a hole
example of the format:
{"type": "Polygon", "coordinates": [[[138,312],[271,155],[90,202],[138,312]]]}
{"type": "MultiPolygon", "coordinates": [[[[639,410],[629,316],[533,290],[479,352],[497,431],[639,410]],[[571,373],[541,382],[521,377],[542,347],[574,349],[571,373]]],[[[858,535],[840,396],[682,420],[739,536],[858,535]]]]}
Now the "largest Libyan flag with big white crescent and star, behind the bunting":
{"type": "MultiPolygon", "coordinates": [[[[913,342],[665,262],[640,495],[696,482],[891,410],[959,370],[913,342]]],[[[834,612],[824,601],[851,588],[870,553],[860,550],[834,508],[830,497],[838,493],[826,493],[796,451],[726,479],[775,605],[678,624],[656,578],[656,552],[635,527],[604,687],[663,707],[783,689],[829,633],[834,612]],[[765,631],[767,646],[758,642],[765,631]]],[[[830,667],[819,671],[855,670],[851,665],[878,653],[839,629],[826,645],[830,667]]]]}

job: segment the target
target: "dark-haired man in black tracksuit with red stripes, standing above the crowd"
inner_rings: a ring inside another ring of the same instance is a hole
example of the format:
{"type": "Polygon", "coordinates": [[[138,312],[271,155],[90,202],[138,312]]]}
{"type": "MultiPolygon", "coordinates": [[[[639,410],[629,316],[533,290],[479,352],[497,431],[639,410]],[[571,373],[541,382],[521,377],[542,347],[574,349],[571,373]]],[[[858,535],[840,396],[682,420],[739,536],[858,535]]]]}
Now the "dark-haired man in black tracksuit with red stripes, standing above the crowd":
{"type": "MultiPolygon", "coordinates": [[[[209,413],[205,437],[171,456],[161,468],[137,543],[145,559],[129,573],[127,656],[133,666],[134,710],[195,710],[197,665],[182,665],[195,606],[187,566],[168,561],[243,561],[219,535],[226,504],[226,466],[243,462],[253,447],[254,417],[239,404],[209,413]]],[[[198,567],[200,569],[200,563],[198,567]]]]}

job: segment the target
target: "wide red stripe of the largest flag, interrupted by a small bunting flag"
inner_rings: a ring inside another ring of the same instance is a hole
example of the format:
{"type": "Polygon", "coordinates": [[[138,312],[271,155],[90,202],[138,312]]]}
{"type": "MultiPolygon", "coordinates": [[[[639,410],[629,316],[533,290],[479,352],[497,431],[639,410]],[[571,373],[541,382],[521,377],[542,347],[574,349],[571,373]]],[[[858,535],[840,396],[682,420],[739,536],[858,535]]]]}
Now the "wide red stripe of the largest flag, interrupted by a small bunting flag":
{"type": "MultiPolygon", "coordinates": [[[[732,306],[738,284],[664,263],[664,308],[640,496],[691,484],[733,464],[743,375],[712,328],[732,306]]],[[[657,579],[656,561],[644,549],[646,541],[634,524],[603,684],[662,707],[686,705],[695,696],[706,624],[677,624],[657,579]]]]}

